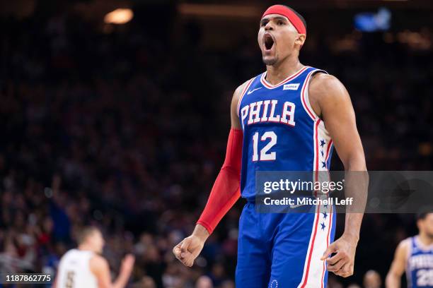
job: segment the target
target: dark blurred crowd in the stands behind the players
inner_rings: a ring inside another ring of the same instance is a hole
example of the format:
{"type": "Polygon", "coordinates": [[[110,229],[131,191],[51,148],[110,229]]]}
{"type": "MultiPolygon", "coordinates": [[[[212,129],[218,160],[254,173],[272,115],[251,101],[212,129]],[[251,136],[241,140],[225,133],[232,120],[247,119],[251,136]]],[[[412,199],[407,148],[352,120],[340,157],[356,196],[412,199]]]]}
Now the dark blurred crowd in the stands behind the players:
{"type": "MultiPolygon", "coordinates": [[[[74,13],[36,15],[0,19],[0,272],[54,275],[76,232],[94,224],[113,274],[125,253],[136,255],[131,287],[234,287],[243,200],[194,268],[171,250],[192,232],[219,172],[233,90],[264,69],[255,41],[214,51],[194,21],[174,37],[174,20],[104,32],[74,13]]],[[[346,85],[367,167],[430,170],[432,54],[376,34],[335,53],[316,37],[320,49],[306,47],[301,61],[346,85]]],[[[331,275],[330,288],[359,287],[371,269],[380,280],[398,241],[415,232],[412,215],[366,215],[355,275],[331,275]]]]}

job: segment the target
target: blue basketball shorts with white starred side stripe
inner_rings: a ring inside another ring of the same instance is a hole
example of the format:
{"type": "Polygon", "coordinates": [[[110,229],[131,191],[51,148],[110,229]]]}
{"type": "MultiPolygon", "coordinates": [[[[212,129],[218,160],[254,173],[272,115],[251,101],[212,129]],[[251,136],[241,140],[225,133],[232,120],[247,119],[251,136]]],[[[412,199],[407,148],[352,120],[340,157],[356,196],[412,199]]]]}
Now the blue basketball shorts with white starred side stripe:
{"type": "Polygon", "coordinates": [[[246,203],[239,220],[236,288],[325,288],[321,260],[335,234],[335,209],[259,213],[246,203]]]}

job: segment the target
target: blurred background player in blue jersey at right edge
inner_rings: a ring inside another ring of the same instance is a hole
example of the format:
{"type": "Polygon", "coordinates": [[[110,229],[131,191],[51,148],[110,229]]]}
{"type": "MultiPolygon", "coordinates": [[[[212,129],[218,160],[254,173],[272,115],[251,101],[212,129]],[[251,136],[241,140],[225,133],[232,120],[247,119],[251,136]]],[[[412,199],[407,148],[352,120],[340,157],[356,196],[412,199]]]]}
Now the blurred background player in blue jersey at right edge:
{"type": "Polygon", "coordinates": [[[399,288],[406,271],[408,287],[433,288],[433,212],[417,217],[420,233],[398,244],[391,269],[386,276],[387,288],[399,288]]]}

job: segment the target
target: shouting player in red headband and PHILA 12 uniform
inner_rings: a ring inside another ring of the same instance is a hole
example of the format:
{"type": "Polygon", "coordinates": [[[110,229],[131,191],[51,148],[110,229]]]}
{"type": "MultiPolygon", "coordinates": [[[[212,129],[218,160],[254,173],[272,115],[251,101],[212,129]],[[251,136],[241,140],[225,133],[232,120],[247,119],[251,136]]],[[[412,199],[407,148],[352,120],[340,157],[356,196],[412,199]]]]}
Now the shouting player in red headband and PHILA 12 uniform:
{"type": "MultiPolygon", "coordinates": [[[[257,171],[327,171],[333,146],[346,171],[366,171],[347,90],[337,78],[299,62],[306,34],[304,18],[287,6],[263,13],[258,44],[266,71],[234,92],[226,159],[194,232],[173,248],[176,258],[192,266],[221,218],[240,196],[246,198],[238,288],[326,287],[328,271],[342,277],[354,271],[363,211],[347,213],[344,234],[330,244],[334,211],[255,210],[257,171]]],[[[346,179],[346,186],[354,202],[365,198],[366,181],[346,179]]]]}

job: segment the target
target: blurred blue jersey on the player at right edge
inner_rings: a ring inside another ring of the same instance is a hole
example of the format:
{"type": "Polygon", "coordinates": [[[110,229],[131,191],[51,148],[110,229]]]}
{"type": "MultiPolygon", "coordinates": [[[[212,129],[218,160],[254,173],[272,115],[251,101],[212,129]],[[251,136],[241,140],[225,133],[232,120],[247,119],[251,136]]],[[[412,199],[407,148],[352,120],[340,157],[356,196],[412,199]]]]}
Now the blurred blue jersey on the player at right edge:
{"type": "Polygon", "coordinates": [[[417,238],[410,237],[406,278],[408,287],[433,288],[433,245],[422,245],[417,238]]]}

